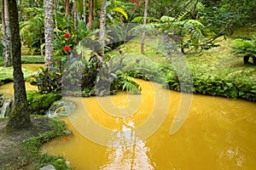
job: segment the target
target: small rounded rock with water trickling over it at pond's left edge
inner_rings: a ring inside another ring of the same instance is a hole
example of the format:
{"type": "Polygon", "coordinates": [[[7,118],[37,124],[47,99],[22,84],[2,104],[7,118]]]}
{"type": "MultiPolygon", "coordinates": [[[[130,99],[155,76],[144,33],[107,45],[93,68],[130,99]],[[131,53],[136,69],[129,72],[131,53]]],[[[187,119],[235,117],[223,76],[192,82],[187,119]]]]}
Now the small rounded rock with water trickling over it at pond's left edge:
{"type": "Polygon", "coordinates": [[[46,112],[46,116],[57,117],[67,116],[75,110],[76,105],[72,101],[58,100],[55,101],[46,112]]]}

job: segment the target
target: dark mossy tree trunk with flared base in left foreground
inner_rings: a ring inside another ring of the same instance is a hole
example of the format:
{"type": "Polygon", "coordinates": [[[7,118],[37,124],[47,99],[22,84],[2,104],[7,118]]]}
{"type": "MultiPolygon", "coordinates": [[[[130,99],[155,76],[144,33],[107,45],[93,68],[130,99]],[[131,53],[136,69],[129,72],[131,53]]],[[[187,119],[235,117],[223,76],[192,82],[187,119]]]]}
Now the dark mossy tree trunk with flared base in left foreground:
{"type": "Polygon", "coordinates": [[[26,101],[26,88],[21,71],[21,43],[20,43],[20,30],[19,30],[19,16],[16,0],[8,1],[9,7],[9,26],[12,43],[13,54],[13,67],[14,67],[14,89],[15,89],[15,105],[11,115],[7,129],[18,130],[32,126],[30,120],[30,112],[27,107],[26,101]]]}

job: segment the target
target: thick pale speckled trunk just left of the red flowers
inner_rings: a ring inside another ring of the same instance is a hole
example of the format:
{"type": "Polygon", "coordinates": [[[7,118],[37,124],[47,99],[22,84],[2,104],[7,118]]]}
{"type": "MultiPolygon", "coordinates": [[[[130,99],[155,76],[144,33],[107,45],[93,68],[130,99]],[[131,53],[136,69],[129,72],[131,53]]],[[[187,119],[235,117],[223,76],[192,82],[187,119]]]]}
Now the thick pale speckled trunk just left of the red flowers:
{"type": "Polygon", "coordinates": [[[54,66],[53,0],[44,0],[45,67],[54,66]]]}

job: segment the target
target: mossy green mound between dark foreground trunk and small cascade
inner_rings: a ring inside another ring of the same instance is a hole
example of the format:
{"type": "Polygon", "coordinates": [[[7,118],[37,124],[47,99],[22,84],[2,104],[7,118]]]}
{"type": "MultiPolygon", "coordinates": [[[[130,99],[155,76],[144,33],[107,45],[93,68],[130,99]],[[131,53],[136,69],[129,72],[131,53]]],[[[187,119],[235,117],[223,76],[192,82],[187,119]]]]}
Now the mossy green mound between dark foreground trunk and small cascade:
{"type": "Polygon", "coordinates": [[[52,103],[61,99],[61,94],[39,94],[28,91],[26,95],[29,108],[34,115],[44,115],[52,103]]]}

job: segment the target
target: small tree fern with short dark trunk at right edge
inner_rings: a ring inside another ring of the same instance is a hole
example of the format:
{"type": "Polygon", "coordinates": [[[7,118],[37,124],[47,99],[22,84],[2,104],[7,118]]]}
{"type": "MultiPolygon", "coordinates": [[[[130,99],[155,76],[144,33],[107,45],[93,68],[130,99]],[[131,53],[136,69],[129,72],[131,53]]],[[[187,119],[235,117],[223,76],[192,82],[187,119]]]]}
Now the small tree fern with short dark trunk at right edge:
{"type": "Polygon", "coordinates": [[[235,39],[232,44],[232,52],[243,57],[244,64],[249,64],[249,59],[253,58],[256,65],[256,40],[235,39]]]}

